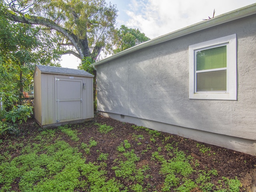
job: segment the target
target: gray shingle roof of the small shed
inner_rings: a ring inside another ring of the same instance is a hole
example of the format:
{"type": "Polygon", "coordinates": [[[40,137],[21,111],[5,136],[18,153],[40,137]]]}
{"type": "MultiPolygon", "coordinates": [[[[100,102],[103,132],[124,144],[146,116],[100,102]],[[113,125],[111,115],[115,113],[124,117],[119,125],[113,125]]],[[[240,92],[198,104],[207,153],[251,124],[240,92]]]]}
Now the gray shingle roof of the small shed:
{"type": "Polygon", "coordinates": [[[70,68],[62,68],[62,67],[53,67],[53,66],[45,66],[45,65],[36,65],[41,72],[46,73],[59,73],[59,74],[72,74],[78,76],[92,76],[92,74],[88,73],[84,70],[79,69],[70,69],[70,68]]]}

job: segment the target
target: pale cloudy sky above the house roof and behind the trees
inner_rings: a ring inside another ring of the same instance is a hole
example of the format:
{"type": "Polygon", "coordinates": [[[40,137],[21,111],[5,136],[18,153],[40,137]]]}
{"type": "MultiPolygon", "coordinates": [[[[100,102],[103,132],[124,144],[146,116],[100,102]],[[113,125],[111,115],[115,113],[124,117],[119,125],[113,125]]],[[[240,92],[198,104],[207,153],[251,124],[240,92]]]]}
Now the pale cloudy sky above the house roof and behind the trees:
{"type": "MultiPolygon", "coordinates": [[[[232,10],[256,3],[256,0],[106,0],[116,4],[116,28],[125,25],[139,29],[150,39],[196,24],[232,10]]],[[[62,56],[62,67],[76,69],[80,60],[62,56]]]]}

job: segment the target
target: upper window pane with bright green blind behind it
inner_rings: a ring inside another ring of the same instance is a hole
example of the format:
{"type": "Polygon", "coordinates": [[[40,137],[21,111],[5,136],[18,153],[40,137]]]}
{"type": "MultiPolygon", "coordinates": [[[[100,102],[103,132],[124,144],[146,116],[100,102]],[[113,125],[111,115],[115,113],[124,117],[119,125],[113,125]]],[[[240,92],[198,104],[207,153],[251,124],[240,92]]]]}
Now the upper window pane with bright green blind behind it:
{"type": "Polygon", "coordinates": [[[196,52],[196,70],[224,68],[227,66],[226,46],[196,52]]]}

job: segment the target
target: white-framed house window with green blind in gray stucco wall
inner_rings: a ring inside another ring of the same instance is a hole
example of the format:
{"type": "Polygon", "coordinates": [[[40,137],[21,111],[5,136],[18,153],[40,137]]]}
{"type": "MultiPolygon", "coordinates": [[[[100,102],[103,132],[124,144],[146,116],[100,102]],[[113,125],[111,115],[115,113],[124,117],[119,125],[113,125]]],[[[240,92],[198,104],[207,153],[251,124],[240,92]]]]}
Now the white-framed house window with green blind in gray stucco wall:
{"type": "Polygon", "coordinates": [[[189,98],[236,100],[236,34],[189,46],[189,98]]]}

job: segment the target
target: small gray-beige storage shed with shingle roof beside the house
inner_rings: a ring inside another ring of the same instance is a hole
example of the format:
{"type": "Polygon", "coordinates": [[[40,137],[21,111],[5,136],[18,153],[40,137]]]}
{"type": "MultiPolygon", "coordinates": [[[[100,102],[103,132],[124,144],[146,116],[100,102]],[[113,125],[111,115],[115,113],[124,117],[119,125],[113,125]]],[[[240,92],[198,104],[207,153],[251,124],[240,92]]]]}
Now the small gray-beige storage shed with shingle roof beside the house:
{"type": "Polygon", "coordinates": [[[36,65],[36,122],[48,128],[93,118],[93,77],[84,70],[36,65]]]}

